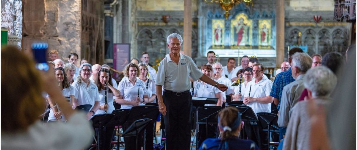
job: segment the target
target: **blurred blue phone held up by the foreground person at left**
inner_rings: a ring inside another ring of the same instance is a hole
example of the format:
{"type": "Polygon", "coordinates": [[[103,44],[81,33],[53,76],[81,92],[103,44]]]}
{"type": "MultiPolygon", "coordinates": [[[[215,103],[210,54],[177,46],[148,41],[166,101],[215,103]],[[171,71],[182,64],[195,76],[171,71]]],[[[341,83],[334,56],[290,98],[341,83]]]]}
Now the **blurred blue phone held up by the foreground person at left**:
{"type": "Polygon", "coordinates": [[[32,43],[32,53],[36,61],[36,68],[39,70],[47,71],[49,66],[47,64],[47,43],[32,43]]]}

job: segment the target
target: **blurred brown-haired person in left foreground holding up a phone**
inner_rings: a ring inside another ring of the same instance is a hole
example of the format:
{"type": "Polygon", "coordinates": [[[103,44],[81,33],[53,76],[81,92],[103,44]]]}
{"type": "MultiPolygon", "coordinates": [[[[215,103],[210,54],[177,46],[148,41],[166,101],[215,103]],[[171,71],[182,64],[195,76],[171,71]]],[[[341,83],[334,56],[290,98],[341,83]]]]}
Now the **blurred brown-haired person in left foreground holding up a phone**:
{"type": "Polygon", "coordinates": [[[20,50],[1,48],[1,149],[79,150],[90,144],[90,122],[72,110],[56,84],[51,71],[37,70],[34,61],[20,50]],[[61,107],[66,124],[42,125],[42,92],[61,107]]]}

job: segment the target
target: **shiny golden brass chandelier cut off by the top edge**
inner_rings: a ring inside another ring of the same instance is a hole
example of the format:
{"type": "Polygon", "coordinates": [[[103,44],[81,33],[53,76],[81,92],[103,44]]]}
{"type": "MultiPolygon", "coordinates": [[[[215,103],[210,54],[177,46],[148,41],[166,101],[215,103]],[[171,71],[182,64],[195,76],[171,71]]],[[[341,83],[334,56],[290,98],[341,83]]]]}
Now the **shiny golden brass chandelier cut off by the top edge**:
{"type": "Polygon", "coordinates": [[[253,6],[253,1],[252,0],[203,0],[206,3],[210,4],[210,3],[219,3],[220,6],[222,7],[222,9],[224,9],[226,12],[224,13],[224,16],[226,17],[226,19],[228,19],[229,16],[229,10],[232,9],[232,7],[234,5],[237,5],[241,2],[245,2],[247,5],[251,4],[251,6],[253,6]]]}

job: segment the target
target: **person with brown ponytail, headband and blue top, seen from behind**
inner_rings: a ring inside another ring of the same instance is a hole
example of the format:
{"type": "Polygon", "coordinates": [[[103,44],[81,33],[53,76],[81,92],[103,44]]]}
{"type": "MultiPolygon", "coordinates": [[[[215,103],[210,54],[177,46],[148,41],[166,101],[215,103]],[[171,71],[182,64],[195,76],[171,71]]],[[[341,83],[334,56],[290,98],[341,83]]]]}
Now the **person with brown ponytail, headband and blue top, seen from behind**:
{"type": "Polygon", "coordinates": [[[226,107],[218,114],[218,139],[206,139],[200,146],[200,150],[259,150],[252,140],[239,139],[239,131],[242,128],[241,115],[236,107],[226,107]]]}

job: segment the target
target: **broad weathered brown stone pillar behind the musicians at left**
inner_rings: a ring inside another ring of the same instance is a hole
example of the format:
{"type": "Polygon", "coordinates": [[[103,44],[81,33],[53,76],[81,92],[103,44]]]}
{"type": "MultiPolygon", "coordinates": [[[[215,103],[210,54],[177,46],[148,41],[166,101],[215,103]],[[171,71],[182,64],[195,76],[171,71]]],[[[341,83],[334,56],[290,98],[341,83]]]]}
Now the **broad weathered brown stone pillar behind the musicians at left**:
{"type": "MultiPolygon", "coordinates": [[[[23,0],[22,50],[33,42],[47,42],[67,61],[71,52],[81,56],[81,0],[23,0]]],[[[78,64],[79,65],[79,62],[78,64]]]]}

